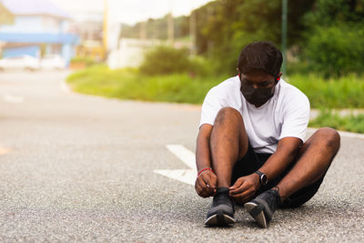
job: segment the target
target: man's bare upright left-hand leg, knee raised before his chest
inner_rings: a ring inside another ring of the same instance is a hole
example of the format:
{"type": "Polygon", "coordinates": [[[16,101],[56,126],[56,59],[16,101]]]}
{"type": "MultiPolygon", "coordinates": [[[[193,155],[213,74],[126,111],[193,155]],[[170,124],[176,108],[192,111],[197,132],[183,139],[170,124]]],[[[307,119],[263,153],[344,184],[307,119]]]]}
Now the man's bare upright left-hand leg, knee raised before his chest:
{"type": "Polygon", "coordinates": [[[247,132],[236,109],[224,107],[218,112],[211,132],[210,147],[217,187],[230,187],[232,169],[248,151],[247,132]]]}

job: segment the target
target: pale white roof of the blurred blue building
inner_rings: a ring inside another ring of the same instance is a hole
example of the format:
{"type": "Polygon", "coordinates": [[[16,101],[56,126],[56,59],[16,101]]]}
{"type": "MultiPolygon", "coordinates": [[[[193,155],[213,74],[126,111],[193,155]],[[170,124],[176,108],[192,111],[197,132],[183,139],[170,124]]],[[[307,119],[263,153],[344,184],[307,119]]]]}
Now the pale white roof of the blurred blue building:
{"type": "Polygon", "coordinates": [[[49,0],[0,0],[13,15],[53,15],[60,18],[71,16],[49,0]]]}

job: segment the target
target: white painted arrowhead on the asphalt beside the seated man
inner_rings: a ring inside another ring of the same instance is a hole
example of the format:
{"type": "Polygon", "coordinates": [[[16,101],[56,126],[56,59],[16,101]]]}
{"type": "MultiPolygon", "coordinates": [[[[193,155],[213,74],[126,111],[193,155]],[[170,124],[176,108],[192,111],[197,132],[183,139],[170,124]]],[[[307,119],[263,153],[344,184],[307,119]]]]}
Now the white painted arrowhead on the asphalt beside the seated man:
{"type": "Polygon", "coordinates": [[[181,145],[167,145],[167,149],[182,160],[189,169],[156,169],[154,172],[192,186],[195,185],[197,177],[195,153],[181,145]]]}

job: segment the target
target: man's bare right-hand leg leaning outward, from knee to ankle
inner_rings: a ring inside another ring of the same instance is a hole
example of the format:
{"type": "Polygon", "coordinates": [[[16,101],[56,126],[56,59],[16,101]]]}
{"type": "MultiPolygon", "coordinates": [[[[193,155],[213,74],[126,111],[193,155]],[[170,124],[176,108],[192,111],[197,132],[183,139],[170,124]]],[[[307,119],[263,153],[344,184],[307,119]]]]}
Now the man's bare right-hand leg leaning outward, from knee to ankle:
{"type": "Polygon", "coordinates": [[[318,181],[329,169],[339,147],[339,133],[332,128],[320,128],[309,137],[299,150],[296,165],[278,183],[282,200],[318,181]]]}

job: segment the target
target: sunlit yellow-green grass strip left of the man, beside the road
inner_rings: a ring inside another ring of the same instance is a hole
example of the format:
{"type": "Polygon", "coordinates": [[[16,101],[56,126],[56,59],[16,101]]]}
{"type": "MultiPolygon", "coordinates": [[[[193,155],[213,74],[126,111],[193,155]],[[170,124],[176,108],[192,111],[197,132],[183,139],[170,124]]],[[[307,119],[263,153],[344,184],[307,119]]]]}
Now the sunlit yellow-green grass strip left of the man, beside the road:
{"type": "Polygon", "coordinates": [[[200,104],[207,91],[226,78],[187,74],[144,76],[136,69],[110,70],[106,66],[93,66],[72,74],[67,82],[75,91],[89,95],[200,104]]]}

